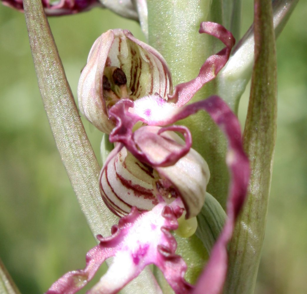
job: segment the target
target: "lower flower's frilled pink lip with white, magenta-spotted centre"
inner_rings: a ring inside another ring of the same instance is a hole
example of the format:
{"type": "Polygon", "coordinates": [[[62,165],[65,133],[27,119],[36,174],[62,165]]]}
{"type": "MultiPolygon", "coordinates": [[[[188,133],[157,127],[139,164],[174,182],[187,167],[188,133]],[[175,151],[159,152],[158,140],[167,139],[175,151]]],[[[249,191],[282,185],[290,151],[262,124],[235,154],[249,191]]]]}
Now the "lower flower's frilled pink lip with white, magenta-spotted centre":
{"type": "MultiPolygon", "coordinates": [[[[182,212],[183,204],[180,199],[169,205],[159,203],[148,212],[140,213],[133,207],[128,215],[119,219],[118,225],[112,226],[111,236],[97,236],[100,243],[87,253],[86,267],[66,273],[52,284],[46,294],[76,293],[92,279],[108,257],[114,256],[114,262],[121,263],[120,258],[116,259],[117,254],[126,254],[132,267],[123,275],[120,286],[112,285],[109,275],[108,285],[103,289],[103,293],[119,291],[149,264],[155,264],[162,271],[175,293],[190,293],[193,286],[184,279],[187,266],[185,261],[175,254],[177,242],[170,233],[170,230],[178,228],[177,219],[182,212]]],[[[120,266],[125,267],[124,264],[120,266]]],[[[112,273],[113,276],[118,274],[120,273],[112,273]]]]}

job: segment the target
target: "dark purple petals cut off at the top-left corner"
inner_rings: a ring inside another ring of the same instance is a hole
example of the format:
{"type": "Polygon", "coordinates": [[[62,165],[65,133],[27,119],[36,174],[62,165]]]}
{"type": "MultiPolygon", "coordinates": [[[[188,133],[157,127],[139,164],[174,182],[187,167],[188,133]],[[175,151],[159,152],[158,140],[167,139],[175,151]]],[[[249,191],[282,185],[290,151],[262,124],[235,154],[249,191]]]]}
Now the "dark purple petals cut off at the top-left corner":
{"type": "MultiPolygon", "coordinates": [[[[22,0],[2,0],[2,3],[5,6],[24,12],[22,0]]],[[[50,0],[42,0],[42,5],[47,16],[75,14],[90,10],[96,6],[102,6],[98,0],[60,0],[52,3],[50,0]]]]}

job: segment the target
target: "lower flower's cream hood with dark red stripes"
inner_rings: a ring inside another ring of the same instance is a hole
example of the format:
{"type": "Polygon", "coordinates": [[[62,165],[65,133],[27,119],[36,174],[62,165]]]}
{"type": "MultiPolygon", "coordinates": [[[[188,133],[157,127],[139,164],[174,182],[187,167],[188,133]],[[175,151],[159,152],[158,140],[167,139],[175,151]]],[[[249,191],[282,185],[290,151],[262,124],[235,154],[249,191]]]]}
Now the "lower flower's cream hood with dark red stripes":
{"type": "MultiPolygon", "coordinates": [[[[161,129],[150,128],[153,132],[161,129]]],[[[151,157],[158,158],[169,145],[174,149],[183,144],[172,131],[164,132],[163,137],[165,144],[160,149],[151,149],[151,157]]],[[[171,203],[179,196],[185,205],[186,217],[190,218],[196,216],[204,204],[209,177],[208,164],[193,149],[171,166],[153,168],[123,147],[103,167],[100,191],[110,210],[119,216],[128,214],[132,206],[148,211],[161,201],[171,203]]]]}

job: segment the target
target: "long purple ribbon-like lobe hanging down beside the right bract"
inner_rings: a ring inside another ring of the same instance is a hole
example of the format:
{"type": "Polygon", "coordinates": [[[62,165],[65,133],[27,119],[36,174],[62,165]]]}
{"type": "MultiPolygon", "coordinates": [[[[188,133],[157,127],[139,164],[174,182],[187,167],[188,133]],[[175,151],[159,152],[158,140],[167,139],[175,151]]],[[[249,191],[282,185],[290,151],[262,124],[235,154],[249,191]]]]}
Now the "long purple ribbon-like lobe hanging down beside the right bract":
{"type": "Polygon", "coordinates": [[[212,248],[207,266],[192,293],[218,294],[223,288],[227,273],[227,243],[231,239],[235,220],[247,194],[250,165],[243,150],[239,121],[228,105],[217,96],[204,100],[202,104],[227,137],[226,162],[230,170],[231,181],[227,199],[227,220],[220,237],[212,248]]]}

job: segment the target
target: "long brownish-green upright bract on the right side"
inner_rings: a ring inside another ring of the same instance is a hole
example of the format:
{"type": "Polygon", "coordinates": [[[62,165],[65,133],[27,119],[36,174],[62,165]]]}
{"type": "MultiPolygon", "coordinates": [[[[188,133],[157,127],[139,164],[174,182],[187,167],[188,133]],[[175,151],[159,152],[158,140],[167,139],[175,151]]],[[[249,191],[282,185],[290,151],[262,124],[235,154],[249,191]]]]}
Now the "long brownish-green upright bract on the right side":
{"type": "Polygon", "coordinates": [[[248,198],[229,246],[226,294],[254,293],[266,224],[276,139],[276,50],[270,0],[255,0],[255,65],[243,133],[251,163],[248,198]]]}

